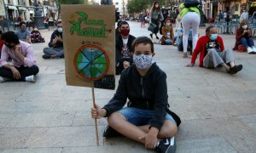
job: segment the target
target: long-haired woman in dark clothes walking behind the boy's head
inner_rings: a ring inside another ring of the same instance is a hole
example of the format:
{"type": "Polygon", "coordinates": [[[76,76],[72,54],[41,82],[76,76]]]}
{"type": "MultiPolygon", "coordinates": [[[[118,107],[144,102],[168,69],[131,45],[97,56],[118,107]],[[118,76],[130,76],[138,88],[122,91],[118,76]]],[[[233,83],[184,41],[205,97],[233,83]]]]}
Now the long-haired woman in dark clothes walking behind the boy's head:
{"type": "Polygon", "coordinates": [[[153,23],[155,25],[154,31],[151,31],[150,37],[153,38],[153,34],[156,39],[159,39],[157,33],[159,31],[160,21],[164,20],[163,14],[161,12],[160,4],[158,1],[154,1],[152,8],[149,13],[149,24],[153,23]]]}

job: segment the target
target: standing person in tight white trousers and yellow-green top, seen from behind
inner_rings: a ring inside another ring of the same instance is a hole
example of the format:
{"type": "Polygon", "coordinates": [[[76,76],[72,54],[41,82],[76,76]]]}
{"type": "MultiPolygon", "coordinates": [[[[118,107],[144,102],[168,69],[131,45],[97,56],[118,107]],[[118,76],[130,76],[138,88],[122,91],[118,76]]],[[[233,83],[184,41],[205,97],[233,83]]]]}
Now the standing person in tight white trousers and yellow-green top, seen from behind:
{"type": "Polygon", "coordinates": [[[181,21],[183,24],[183,58],[188,57],[188,37],[189,37],[189,26],[192,29],[193,45],[192,50],[195,49],[195,45],[198,39],[198,28],[200,24],[200,10],[197,7],[186,8],[184,3],[178,6],[181,21]]]}

